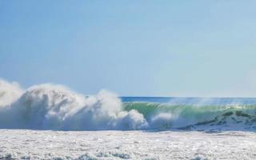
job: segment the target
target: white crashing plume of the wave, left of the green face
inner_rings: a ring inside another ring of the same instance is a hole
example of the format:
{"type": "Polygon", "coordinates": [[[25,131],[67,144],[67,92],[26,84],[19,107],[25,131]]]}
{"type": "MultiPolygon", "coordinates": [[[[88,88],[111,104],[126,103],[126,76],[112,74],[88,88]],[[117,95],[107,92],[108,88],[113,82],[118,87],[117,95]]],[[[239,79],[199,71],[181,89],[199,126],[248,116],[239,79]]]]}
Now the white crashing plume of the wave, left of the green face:
{"type": "Polygon", "coordinates": [[[142,114],[122,110],[118,96],[106,90],[86,97],[65,86],[43,84],[23,91],[8,106],[0,110],[1,128],[141,130],[148,126],[142,114]]]}

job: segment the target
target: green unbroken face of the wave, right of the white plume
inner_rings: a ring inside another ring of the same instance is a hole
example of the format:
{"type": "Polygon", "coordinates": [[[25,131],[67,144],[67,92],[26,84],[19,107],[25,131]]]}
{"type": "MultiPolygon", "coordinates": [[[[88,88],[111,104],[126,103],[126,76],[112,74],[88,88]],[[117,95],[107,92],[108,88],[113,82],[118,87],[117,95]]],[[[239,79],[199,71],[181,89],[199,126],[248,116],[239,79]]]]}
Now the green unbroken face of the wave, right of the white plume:
{"type": "Polygon", "coordinates": [[[256,105],[193,106],[124,102],[123,108],[143,114],[151,128],[193,129],[218,126],[256,129],[256,105]],[[156,119],[157,125],[154,124],[156,119]]]}

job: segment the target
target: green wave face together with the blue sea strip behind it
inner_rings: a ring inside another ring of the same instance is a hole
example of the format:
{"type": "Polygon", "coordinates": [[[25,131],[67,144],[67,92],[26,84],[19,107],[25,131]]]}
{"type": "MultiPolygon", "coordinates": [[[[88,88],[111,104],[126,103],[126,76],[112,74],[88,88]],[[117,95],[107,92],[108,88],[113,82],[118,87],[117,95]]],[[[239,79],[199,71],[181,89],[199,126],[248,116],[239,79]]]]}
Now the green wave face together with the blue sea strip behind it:
{"type": "Polygon", "coordinates": [[[124,110],[137,110],[155,129],[256,129],[255,98],[121,99],[124,110]]]}

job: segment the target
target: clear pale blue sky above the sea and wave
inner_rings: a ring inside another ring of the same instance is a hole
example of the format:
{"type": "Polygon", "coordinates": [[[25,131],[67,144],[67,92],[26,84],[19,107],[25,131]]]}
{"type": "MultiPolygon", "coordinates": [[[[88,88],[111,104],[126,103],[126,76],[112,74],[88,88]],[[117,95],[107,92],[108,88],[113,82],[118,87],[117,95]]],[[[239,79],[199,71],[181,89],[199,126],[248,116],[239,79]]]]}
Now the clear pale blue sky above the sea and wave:
{"type": "Polygon", "coordinates": [[[256,1],[0,1],[0,78],[82,94],[255,97],[256,1]]]}

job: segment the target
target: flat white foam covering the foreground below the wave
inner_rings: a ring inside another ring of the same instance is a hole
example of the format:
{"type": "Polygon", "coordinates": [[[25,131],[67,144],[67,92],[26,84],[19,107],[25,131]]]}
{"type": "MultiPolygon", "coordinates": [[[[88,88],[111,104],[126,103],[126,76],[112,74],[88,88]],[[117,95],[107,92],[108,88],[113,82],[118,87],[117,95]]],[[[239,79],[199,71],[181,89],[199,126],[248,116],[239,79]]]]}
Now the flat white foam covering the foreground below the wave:
{"type": "Polygon", "coordinates": [[[0,159],[256,159],[254,132],[0,130],[0,159]]]}

